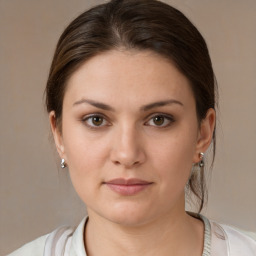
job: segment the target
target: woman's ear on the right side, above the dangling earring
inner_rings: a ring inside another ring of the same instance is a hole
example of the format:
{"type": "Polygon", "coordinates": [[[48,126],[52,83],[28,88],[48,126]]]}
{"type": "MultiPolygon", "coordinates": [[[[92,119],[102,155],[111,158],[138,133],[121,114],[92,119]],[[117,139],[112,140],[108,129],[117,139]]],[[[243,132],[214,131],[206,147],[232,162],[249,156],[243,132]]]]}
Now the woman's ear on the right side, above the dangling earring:
{"type": "Polygon", "coordinates": [[[215,122],[215,110],[210,108],[206,113],[206,117],[200,123],[196,151],[193,158],[194,163],[198,163],[201,160],[200,152],[204,153],[210,146],[215,128],[215,122]]]}

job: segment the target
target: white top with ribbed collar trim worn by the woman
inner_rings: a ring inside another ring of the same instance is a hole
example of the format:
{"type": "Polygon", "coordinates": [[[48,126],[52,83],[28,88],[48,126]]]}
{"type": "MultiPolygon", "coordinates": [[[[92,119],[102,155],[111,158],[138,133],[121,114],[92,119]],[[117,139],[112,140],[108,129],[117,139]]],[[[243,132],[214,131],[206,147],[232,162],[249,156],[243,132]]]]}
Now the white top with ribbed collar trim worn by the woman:
{"type": "MultiPolygon", "coordinates": [[[[209,221],[201,214],[191,215],[204,222],[202,256],[256,256],[256,240],[252,237],[235,228],[209,221]]],[[[76,229],[60,227],[8,256],[86,256],[84,227],[87,219],[84,218],[76,229]]]]}

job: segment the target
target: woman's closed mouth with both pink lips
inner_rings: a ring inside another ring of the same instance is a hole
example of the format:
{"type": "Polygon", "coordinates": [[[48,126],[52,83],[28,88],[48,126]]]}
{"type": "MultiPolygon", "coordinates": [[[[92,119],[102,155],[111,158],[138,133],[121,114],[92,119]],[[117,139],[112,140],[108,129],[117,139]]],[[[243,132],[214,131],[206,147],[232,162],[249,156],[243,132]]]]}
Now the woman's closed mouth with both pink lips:
{"type": "Polygon", "coordinates": [[[103,182],[103,184],[122,196],[133,196],[150,187],[153,182],[119,178],[103,182]]]}

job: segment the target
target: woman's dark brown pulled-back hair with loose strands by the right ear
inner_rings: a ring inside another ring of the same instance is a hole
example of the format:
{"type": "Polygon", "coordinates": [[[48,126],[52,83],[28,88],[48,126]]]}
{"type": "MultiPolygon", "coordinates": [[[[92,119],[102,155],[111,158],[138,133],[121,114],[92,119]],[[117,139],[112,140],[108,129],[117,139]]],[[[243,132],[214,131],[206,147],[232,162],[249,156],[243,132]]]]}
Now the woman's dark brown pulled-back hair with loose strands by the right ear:
{"type": "MultiPolygon", "coordinates": [[[[61,130],[62,104],[69,77],[102,52],[124,48],[151,50],[172,61],[190,81],[199,123],[215,109],[217,85],[207,45],[196,27],[177,9],[156,0],[112,0],[79,15],[61,35],[46,86],[47,111],[55,111],[61,130]]],[[[213,134],[213,159],[215,130],[213,134]]],[[[194,172],[193,172],[194,173],[194,172]]],[[[204,171],[188,182],[206,199],[204,171]]]]}

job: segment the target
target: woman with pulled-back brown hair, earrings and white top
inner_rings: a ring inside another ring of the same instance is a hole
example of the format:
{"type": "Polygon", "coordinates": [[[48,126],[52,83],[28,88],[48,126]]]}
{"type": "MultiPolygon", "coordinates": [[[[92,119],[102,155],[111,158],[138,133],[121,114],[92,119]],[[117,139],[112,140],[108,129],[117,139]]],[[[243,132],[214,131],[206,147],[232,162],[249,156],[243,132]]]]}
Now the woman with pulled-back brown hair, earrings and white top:
{"type": "Polygon", "coordinates": [[[206,43],[178,10],[115,0],[81,14],[53,58],[46,105],[61,167],[88,216],[11,255],[255,255],[256,242],[185,211],[205,202],[216,84],[206,43]]]}

